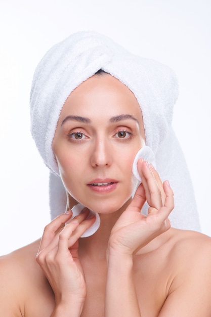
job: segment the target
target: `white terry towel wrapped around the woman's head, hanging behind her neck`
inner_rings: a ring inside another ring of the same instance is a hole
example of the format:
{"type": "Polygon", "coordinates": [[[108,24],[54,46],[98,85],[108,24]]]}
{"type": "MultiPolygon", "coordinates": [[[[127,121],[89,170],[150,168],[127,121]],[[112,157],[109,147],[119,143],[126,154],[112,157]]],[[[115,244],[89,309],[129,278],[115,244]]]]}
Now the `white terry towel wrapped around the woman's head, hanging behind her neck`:
{"type": "MultiPolygon", "coordinates": [[[[161,179],[168,179],[175,192],[175,209],[170,216],[172,226],[199,231],[190,175],[171,127],[178,97],[174,72],[156,61],[129,53],[104,35],[86,31],[72,34],[47,52],[35,70],[31,88],[32,136],[45,164],[53,172],[51,217],[66,208],[66,194],[52,151],[59,114],[69,94],[99,69],[129,87],[139,102],[146,144],[155,154],[161,179]]],[[[147,206],[143,212],[147,212],[147,206]]]]}

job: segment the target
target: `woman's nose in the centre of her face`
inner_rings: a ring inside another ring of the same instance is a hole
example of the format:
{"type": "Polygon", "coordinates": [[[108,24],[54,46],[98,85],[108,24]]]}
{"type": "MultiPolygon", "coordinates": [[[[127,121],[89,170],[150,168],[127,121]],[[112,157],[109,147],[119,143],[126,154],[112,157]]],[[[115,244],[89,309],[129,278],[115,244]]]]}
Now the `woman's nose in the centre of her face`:
{"type": "Polygon", "coordinates": [[[110,166],[112,163],[112,149],[109,140],[106,138],[96,139],[92,154],[91,165],[93,167],[110,166]]]}

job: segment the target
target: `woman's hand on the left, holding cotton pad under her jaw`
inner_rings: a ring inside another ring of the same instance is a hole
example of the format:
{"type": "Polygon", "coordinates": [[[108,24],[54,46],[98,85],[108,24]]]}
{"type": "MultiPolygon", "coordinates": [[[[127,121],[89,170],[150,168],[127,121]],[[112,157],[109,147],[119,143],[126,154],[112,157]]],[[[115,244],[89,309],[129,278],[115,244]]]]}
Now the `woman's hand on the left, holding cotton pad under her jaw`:
{"type": "Polygon", "coordinates": [[[55,307],[74,305],[82,310],[87,288],[78,257],[78,239],[94,223],[95,216],[89,216],[85,208],[64,226],[71,216],[68,211],[45,227],[36,260],[54,291],[55,307]]]}

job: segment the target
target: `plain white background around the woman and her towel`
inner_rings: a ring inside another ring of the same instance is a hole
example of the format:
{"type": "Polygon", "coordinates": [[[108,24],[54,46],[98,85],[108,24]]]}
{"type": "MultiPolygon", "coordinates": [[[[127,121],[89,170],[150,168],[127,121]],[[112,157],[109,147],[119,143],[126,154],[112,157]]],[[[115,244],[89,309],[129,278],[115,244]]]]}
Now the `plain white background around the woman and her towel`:
{"type": "Polygon", "coordinates": [[[46,51],[79,30],[104,33],[176,71],[174,127],[193,179],[202,232],[211,235],[210,13],[209,0],[1,1],[0,254],[34,241],[50,221],[48,170],[30,135],[30,85],[46,51]]]}

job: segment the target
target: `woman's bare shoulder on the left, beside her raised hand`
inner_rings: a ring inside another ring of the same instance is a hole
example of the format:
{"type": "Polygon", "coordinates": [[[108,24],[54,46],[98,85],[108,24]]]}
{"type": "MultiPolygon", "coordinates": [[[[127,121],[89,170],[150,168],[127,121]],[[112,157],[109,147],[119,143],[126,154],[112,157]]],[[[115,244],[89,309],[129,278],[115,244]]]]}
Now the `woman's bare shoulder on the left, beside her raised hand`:
{"type": "Polygon", "coordinates": [[[47,285],[36,262],[39,241],[0,257],[0,315],[26,316],[26,303],[47,285]]]}

